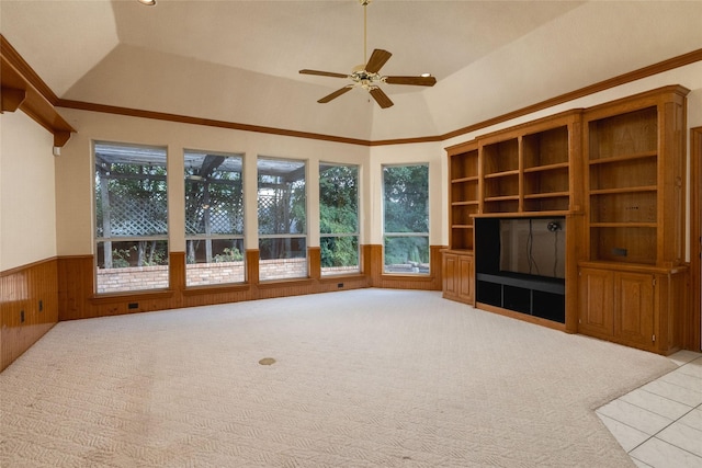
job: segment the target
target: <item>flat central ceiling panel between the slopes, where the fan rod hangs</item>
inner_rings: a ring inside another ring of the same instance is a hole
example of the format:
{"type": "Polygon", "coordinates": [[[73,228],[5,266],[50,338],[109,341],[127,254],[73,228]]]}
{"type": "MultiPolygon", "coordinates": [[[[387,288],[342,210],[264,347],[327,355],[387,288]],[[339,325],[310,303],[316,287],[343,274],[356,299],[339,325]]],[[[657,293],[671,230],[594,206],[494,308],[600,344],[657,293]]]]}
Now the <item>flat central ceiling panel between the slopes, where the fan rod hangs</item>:
{"type": "MultiPolygon", "coordinates": [[[[376,0],[366,7],[366,56],[374,48],[393,53],[383,69],[386,75],[448,77],[577,4],[376,0]]],[[[122,44],[259,73],[336,85],[335,80],[297,71],[349,73],[364,62],[363,7],[358,0],[161,0],[148,11],[121,1],[113,9],[122,44]]]]}

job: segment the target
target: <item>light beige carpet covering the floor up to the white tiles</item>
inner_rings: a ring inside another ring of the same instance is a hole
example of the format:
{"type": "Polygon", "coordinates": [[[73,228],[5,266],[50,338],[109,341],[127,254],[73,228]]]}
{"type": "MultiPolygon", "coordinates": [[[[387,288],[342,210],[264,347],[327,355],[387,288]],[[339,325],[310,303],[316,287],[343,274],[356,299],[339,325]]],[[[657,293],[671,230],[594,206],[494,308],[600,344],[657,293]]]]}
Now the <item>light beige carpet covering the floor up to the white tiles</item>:
{"type": "Polygon", "coordinates": [[[0,375],[0,466],[619,468],[593,409],[673,368],[428,292],[61,322],[0,375]]]}

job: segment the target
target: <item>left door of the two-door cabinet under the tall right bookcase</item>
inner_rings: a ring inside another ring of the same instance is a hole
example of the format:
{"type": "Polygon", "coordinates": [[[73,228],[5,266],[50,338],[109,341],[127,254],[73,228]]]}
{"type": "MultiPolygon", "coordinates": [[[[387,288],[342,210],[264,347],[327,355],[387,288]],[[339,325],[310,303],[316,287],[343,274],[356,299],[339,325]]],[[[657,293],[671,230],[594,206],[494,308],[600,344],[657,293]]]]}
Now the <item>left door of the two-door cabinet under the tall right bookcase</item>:
{"type": "Polygon", "coordinates": [[[614,334],[614,274],[608,270],[581,269],[578,331],[593,336],[614,334]]]}

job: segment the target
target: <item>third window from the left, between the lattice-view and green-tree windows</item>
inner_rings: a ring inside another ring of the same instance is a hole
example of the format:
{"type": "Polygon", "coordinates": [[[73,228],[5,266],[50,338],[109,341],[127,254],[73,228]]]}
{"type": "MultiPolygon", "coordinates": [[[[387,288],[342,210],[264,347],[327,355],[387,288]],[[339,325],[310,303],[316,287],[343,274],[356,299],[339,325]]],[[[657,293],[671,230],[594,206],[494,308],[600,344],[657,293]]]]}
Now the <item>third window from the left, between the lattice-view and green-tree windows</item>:
{"type": "Polygon", "coordinates": [[[307,277],[306,164],[259,158],[259,279],[307,277]]]}

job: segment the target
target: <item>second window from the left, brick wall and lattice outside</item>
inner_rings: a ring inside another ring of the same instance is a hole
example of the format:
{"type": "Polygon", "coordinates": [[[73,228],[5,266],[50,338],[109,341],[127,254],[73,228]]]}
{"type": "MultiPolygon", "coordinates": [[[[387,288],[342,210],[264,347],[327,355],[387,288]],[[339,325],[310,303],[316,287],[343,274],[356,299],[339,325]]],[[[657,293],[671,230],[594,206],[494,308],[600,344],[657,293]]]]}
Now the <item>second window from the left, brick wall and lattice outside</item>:
{"type": "Polygon", "coordinates": [[[185,150],[185,284],[246,281],[242,157],[185,150]]]}

